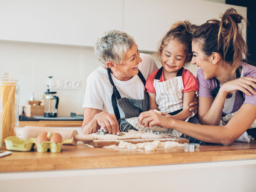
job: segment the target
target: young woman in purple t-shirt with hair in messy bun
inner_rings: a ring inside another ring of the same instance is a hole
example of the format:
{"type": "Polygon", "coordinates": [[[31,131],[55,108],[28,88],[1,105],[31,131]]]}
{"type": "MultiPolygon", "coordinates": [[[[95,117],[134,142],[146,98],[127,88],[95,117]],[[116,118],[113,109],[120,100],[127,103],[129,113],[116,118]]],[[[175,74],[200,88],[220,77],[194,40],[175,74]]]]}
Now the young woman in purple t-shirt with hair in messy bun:
{"type": "Polygon", "coordinates": [[[242,62],[247,54],[239,28],[243,19],[235,9],[228,9],[221,21],[208,20],[194,32],[192,64],[202,68],[197,79],[198,118],[203,125],[147,111],[138,118],[142,127],[174,128],[199,141],[223,145],[240,136],[244,142],[256,138],[256,67],[242,62]]]}

